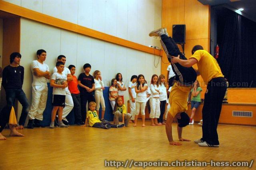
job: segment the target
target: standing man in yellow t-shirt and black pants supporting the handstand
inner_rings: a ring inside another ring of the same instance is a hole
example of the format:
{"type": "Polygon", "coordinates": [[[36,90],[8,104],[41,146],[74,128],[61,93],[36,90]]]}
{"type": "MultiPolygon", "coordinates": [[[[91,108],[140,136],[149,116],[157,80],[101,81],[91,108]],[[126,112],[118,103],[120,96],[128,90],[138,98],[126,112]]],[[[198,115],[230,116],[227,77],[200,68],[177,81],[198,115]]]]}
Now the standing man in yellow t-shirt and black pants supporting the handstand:
{"type": "Polygon", "coordinates": [[[224,75],[216,59],[207,51],[203,50],[201,45],[196,45],[192,49],[192,56],[188,60],[182,60],[180,57],[172,56],[172,63],[179,63],[184,67],[191,67],[194,64],[198,66],[198,72],[201,74],[204,83],[207,84],[204,95],[203,127],[202,138],[194,140],[199,146],[218,147],[217,126],[220,118],[222,100],[224,98],[227,84],[224,75]]]}

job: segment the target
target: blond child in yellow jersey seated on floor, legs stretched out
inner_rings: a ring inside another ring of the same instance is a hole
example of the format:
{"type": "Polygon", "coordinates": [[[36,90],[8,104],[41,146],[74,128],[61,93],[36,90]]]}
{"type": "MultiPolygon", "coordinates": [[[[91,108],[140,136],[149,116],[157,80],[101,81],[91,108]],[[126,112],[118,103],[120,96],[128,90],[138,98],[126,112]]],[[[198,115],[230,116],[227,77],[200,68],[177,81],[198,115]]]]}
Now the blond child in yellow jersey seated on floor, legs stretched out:
{"type": "Polygon", "coordinates": [[[85,127],[87,126],[87,123],[89,121],[90,127],[96,127],[96,128],[122,128],[124,127],[124,124],[121,125],[112,125],[109,122],[102,122],[100,121],[97,112],[96,112],[96,103],[94,101],[91,101],[89,103],[89,111],[86,113],[86,120],[85,120],[85,127]]]}

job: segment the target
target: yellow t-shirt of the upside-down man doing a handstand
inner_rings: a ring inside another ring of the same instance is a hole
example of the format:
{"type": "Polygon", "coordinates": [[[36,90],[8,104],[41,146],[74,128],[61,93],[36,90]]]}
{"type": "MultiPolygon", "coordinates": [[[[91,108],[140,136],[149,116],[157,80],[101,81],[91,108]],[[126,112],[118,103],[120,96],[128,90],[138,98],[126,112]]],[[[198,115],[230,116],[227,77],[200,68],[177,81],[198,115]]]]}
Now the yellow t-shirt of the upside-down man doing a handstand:
{"type": "Polygon", "coordinates": [[[190,90],[191,86],[180,86],[174,83],[169,97],[171,108],[168,111],[172,117],[175,117],[177,113],[186,112],[188,110],[188,94],[190,90]]]}

